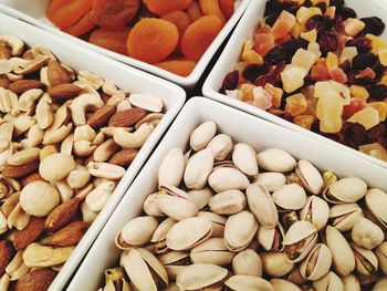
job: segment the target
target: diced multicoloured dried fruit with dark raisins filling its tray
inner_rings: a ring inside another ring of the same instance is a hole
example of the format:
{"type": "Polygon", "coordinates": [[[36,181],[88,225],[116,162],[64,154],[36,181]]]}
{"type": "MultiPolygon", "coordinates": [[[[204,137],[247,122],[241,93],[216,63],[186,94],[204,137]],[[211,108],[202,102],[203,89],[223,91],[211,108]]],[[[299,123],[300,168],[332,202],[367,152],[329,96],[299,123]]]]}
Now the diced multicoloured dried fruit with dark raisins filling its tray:
{"type": "Polygon", "coordinates": [[[387,42],[344,0],[269,0],[221,93],[387,162],[387,42]]]}

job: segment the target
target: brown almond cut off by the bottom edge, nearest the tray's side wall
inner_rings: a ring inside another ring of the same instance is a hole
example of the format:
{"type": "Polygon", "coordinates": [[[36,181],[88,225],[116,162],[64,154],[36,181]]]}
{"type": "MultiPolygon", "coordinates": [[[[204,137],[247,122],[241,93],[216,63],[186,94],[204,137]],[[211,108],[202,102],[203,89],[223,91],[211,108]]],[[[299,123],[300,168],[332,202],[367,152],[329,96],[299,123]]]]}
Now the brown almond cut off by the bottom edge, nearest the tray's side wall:
{"type": "Polygon", "coordinates": [[[14,291],[44,291],[54,281],[56,272],[52,269],[35,269],[17,281],[14,291]]]}

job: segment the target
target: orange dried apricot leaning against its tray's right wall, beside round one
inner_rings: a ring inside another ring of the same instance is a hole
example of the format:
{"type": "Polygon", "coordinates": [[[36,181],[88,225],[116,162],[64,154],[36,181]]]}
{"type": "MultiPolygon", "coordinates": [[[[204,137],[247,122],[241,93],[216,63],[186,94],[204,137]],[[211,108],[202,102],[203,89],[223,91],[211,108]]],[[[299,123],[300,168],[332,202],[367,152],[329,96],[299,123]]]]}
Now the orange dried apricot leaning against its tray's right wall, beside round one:
{"type": "Polygon", "coordinates": [[[188,27],[181,39],[182,54],[194,61],[199,61],[211,42],[222,29],[218,17],[202,17],[188,27]]]}

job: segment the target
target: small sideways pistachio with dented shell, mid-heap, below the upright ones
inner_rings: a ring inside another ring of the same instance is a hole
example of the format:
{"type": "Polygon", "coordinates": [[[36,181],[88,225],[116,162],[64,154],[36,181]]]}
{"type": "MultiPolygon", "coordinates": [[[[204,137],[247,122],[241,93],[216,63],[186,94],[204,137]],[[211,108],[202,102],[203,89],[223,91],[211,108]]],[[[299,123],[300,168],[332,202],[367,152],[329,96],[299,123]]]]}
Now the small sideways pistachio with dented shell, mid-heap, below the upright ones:
{"type": "Polygon", "coordinates": [[[247,201],[240,190],[227,190],[215,195],[208,206],[218,215],[234,215],[245,208],[247,201]]]}

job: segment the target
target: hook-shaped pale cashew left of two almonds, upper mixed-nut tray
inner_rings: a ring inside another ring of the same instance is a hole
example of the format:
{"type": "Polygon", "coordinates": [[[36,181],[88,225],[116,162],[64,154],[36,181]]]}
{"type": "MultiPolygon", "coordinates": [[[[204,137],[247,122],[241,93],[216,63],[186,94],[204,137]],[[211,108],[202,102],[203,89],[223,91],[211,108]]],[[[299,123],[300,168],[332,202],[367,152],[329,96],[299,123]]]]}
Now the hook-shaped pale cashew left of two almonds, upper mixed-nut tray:
{"type": "Polygon", "coordinates": [[[76,126],[86,124],[86,112],[88,110],[95,111],[104,105],[100,95],[82,94],[77,96],[70,105],[74,124],[76,126]]]}

